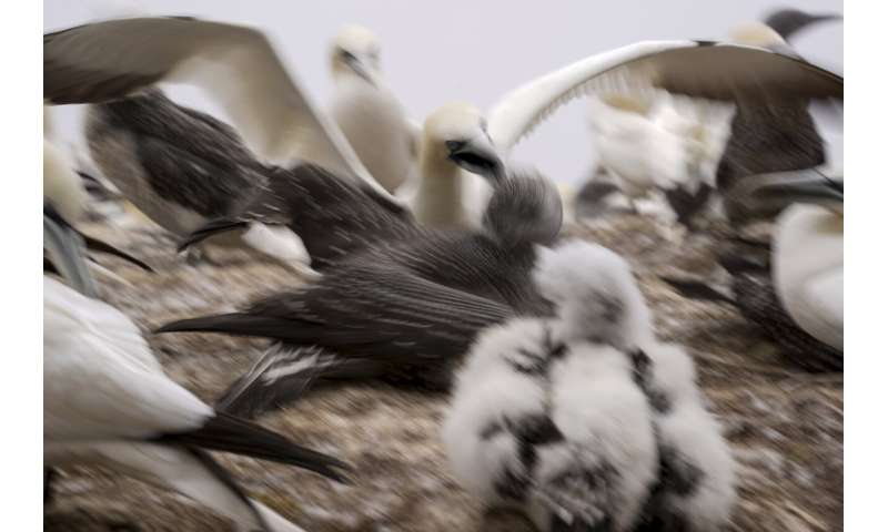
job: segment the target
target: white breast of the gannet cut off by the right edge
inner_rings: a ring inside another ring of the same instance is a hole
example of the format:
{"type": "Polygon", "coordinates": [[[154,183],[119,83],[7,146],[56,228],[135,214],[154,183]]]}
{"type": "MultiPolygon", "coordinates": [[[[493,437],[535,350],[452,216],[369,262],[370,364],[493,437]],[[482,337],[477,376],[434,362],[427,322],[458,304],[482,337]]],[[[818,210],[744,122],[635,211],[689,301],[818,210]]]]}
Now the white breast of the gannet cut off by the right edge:
{"type": "Polygon", "coordinates": [[[777,219],[773,275],[780,303],[806,332],[836,349],[845,338],[845,221],[818,205],[777,219]]]}

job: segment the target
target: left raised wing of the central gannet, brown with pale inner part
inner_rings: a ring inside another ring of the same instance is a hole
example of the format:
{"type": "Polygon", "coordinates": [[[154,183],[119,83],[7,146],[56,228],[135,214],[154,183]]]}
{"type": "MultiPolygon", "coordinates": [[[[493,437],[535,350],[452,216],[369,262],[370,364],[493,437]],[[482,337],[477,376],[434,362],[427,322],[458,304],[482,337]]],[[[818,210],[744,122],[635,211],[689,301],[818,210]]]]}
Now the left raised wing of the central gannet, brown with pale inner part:
{"type": "Polygon", "coordinates": [[[203,88],[265,162],[312,162],[367,181],[387,195],[259,30],[195,19],[133,18],[43,35],[43,98],[51,103],[100,103],[160,81],[203,88]]]}

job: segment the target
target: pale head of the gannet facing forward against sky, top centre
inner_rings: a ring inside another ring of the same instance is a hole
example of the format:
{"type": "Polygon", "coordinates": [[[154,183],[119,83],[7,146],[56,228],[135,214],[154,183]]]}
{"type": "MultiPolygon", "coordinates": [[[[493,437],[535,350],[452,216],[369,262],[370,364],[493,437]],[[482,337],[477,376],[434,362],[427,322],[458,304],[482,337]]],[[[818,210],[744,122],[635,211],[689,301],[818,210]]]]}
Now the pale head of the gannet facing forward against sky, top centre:
{"type": "Polygon", "coordinates": [[[333,79],[357,76],[372,85],[379,84],[380,41],[369,29],[347,24],[343,27],[330,49],[333,79]]]}

